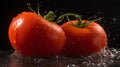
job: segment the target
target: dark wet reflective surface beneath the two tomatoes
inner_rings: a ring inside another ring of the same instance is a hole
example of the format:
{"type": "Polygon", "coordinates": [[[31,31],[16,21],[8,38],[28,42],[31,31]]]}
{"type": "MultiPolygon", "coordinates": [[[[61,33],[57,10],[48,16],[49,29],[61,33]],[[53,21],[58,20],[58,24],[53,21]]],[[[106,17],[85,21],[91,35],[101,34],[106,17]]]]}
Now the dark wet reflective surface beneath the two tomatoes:
{"type": "Polygon", "coordinates": [[[0,51],[0,67],[120,67],[120,51],[104,50],[89,57],[25,58],[13,50],[0,51]]]}

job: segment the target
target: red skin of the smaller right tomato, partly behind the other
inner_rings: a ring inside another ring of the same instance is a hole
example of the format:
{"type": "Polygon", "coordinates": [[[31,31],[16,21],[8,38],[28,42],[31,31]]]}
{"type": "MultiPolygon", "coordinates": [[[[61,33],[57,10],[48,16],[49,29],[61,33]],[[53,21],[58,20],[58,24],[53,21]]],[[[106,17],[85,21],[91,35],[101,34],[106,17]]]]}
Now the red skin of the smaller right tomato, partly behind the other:
{"type": "MultiPolygon", "coordinates": [[[[76,20],[73,20],[76,23],[76,20]]],[[[85,20],[82,20],[85,22],[85,20]]],[[[107,45],[107,35],[96,22],[84,28],[78,28],[70,22],[61,25],[66,34],[63,54],[66,56],[89,56],[100,52],[107,45]]]]}

